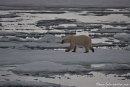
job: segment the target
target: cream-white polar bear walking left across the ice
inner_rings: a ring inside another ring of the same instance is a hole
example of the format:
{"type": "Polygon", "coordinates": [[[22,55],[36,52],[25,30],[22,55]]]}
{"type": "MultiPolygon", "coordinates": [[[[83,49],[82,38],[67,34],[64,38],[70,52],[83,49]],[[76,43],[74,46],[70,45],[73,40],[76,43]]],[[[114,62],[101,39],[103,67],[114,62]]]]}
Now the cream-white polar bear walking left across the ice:
{"type": "Polygon", "coordinates": [[[74,49],[72,52],[76,52],[76,46],[79,45],[85,47],[85,53],[88,53],[89,49],[94,52],[94,48],[92,47],[91,42],[91,38],[86,35],[70,35],[63,38],[61,43],[70,43],[70,47],[65,52],[69,52],[72,49],[74,49]]]}

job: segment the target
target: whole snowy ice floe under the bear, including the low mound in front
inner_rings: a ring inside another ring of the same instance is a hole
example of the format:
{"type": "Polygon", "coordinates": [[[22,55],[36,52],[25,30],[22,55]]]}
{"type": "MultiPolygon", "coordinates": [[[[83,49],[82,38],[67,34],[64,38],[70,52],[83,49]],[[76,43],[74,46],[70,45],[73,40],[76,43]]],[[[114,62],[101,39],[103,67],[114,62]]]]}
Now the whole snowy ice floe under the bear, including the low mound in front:
{"type": "Polygon", "coordinates": [[[13,72],[42,73],[42,75],[130,69],[130,51],[95,49],[95,53],[83,52],[82,48],[78,48],[76,53],[64,52],[64,50],[2,49],[0,50],[0,64],[17,64],[18,66],[12,70],[13,72]],[[94,64],[101,64],[101,66],[97,67],[98,65],[94,64]]]}

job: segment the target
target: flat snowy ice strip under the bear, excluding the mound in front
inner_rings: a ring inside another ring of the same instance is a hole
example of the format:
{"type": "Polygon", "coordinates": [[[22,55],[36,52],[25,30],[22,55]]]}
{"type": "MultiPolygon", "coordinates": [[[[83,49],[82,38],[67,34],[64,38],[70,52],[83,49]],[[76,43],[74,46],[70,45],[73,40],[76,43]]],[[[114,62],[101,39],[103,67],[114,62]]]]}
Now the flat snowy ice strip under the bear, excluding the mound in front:
{"type": "Polygon", "coordinates": [[[36,61],[50,61],[65,64],[130,63],[129,57],[130,51],[114,49],[95,49],[94,53],[91,51],[84,53],[83,48],[78,48],[76,53],[65,52],[64,50],[0,49],[1,65],[25,64],[36,61]]]}

